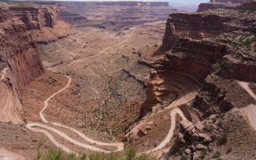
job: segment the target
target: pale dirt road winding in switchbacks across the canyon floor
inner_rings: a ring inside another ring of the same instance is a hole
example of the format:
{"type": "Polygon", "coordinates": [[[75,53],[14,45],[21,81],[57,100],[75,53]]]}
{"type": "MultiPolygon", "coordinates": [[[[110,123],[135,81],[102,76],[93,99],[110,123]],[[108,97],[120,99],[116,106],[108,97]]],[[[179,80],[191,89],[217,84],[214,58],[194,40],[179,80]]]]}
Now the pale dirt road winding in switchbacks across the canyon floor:
{"type": "MultiPolygon", "coordinates": [[[[79,61],[88,60],[88,58],[93,58],[95,56],[99,56],[100,54],[102,54],[103,52],[107,51],[108,49],[111,49],[111,48],[116,47],[118,45],[122,45],[132,36],[133,33],[134,33],[134,29],[132,29],[132,33],[129,36],[127,36],[127,38],[125,38],[125,40],[123,42],[121,42],[120,44],[116,44],[116,45],[113,45],[111,47],[107,47],[106,49],[100,51],[98,54],[95,54],[93,56],[89,56],[87,58],[83,58],[81,60],[73,61],[72,63],[69,63],[67,65],[72,65],[72,64],[77,63],[79,61]]],[[[60,67],[67,66],[67,65],[61,65],[61,66],[57,66],[57,67],[52,67],[52,68],[49,68],[49,70],[52,70],[53,68],[60,68],[60,67]]],[[[91,138],[88,138],[82,132],[79,132],[79,131],[77,131],[76,129],[74,129],[72,127],[68,127],[66,125],[63,125],[63,124],[60,124],[60,123],[57,123],[57,122],[49,122],[45,118],[44,111],[48,107],[49,100],[51,100],[52,97],[54,97],[58,93],[63,92],[63,90],[67,89],[68,86],[70,85],[71,78],[68,77],[68,76],[66,76],[66,77],[68,78],[67,85],[64,88],[61,88],[61,90],[59,90],[58,92],[52,94],[51,97],[49,97],[47,100],[45,100],[44,108],[39,113],[40,118],[42,119],[42,122],[44,122],[45,124],[39,124],[39,123],[36,123],[36,122],[31,122],[31,123],[26,124],[26,127],[28,129],[30,129],[31,131],[42,132],[43,134],[45,134],[49,138],[49,140],[52,141],[52,143],[54,143],[54,145],[56,145],[57,147],[60,147],[61,149],[63,149],[65,152],[68,152],[68,153],[75,153],[75,152],[73,150],[70,150],[70,148],[65,147],[65,145],[62,145],[61,143],[56,141],[54,136],[52,136],[52,134],[49,131],[54,132],[55,134],[58,134],[58,136],[61,136],[61,138],[64,138],[65,140],[70,141],[71,143],[73,143],[73,144],[75,144],[75,145],[77,145],[79,147],[83,147],[83,148],[86,148],[86,149],[89,149],[89,150],[93,150],[93,151],[97,151],[97,152],[105,152],[105,153],[111,152],[111,151],[104,150],[104,149],[99,148],[99,147],[95,147],[94,145],[116,147],[115,152],[116,151],[124,150],[124,143],[122,143],[122,142],[118,142],[118,143],[104,143],[104,142],[101,142],[101,141],[95,141],[95,140],[92,140],[91,138]],[[51,125],[55,125],[55,126],[58,126],[58,127],[63,127],[65,129],[68,129],[69,131],[72,131],[72,132],[76,133],[78,136],[83,138],[88,143],[93,143],[93,145],[88,145],[86,143],[81,143],[80,141],[74,140],[73,138],[71,138],[70,136],[65,134],[65,132],[60,131],[59,129],[55,129],[54,127],[49,127],[46,124],[51,124],[51,125]]],[[[173,108],[172,111],[170,111],[170,116],[172,117],[172,124],[170,126],[170,131],[168,132],[168,134],[166,135],[164,140],[157,147],[152,148],[151,150],[148,150],[148,151],[146,151],[144,153],[149,154],[150,152],[154,152],[156,150],[160,150],[160,149],[164,148],[166,146],[166,144],[172,139],[173,131],[175,129],[175,115],[179,114],[181,116],[182,120],[186,120],[186,117],[183,115],[182,111],[180,111],[178,106],[180,104],[184,104],[184,103],[188,102],[188,100],[190,100],[190,99],[191,99],[191,95],[180,93],[179,99],[173,101],[172,104],[170,104],[170,106],[168,106],[168,108],[166,108],[166,109],[173,108]]]]}

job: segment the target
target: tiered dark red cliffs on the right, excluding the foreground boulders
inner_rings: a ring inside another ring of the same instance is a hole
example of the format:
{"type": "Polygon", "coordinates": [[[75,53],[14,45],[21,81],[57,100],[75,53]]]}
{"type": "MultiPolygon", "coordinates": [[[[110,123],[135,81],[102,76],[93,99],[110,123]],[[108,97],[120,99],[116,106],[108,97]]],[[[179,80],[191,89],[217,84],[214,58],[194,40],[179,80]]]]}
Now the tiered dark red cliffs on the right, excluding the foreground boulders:
{"type": "Polygon", "coordinates": [[[201,117],[241,107],[239,100],[243,100],[228,91],[234,92],[236,88],[241,92],[237,83],[230,83],[230,79],[256,80],[256,38],[252,29],[255,22],[253,10],[248,12],[245,8],[170,14],[162,46],[167,52],[152,66],[157,74],[185,74],[203,84],[194,104],[201,117]],[[211,75],[216,77],[209,78],[211,75]]]}

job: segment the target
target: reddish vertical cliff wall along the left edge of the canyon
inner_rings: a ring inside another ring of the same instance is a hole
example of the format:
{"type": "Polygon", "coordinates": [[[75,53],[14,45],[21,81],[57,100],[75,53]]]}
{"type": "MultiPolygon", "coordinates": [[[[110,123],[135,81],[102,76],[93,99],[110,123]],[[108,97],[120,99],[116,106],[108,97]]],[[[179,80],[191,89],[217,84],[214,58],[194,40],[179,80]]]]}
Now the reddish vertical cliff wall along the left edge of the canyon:
{"type": "Polygon", "coordinates": [[[60,15],[53,8],[0,8],[0,121],[22,123],[20,90],[44,72],[30,29],[53,27],[60,15]]]}

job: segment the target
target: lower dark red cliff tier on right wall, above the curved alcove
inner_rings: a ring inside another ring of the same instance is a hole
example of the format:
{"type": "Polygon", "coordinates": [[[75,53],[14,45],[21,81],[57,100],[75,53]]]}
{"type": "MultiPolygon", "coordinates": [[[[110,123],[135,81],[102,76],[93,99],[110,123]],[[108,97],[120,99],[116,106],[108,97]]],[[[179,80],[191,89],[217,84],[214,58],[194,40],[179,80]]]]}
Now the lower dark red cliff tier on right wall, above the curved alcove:
{"type": "Polygon", "coordinates": [[[227,52],[228,47],[224,44],[180,38],[172,50],[166,53],[163,68],[168,72],[190,74],[203,81],[227,52]]]}

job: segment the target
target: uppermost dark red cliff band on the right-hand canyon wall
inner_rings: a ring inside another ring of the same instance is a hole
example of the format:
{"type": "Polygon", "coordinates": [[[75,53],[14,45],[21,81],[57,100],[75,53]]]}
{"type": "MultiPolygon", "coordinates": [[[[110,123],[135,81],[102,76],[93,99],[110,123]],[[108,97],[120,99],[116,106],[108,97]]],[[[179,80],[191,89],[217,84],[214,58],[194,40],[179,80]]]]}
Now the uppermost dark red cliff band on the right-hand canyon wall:
{"type": "Polygon", "coordinates": [[[163,48],[170,50],[173,44],[183,36],[201,40],[228,31],[231,28],[223,23],[228,20],[230,20],[229,17],[218,15],[172,13],[166,22],[163,48]]]}

